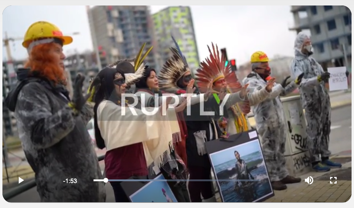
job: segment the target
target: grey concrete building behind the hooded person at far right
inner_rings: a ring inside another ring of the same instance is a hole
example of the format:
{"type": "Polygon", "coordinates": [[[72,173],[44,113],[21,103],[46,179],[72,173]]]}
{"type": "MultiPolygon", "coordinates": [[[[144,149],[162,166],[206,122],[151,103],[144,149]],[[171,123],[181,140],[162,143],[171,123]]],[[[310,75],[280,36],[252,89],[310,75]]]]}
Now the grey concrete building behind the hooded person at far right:
{"type": "Polygon", "coordinates": [[[295,26],[309,29],[314,58],[322,67],[352,68],[352,12],[346,6],[291,6],[295,26]],[[347,55],[347,57],[344,56],[347,55]]]}

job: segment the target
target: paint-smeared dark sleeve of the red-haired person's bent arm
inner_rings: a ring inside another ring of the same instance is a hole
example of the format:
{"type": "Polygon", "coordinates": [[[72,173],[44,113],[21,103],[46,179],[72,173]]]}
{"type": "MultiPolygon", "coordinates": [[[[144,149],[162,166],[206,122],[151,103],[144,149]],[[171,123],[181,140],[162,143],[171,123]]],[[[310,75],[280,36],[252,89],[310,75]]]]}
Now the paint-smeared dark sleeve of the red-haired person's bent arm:
{"type": "Polygon", "coordinates": [[[18,122],[28,127],[31,143],[40,149],[57,144],[75,127],[73,110],[63,106],[52,113],[52,106],[39,83],[29,83],[18,95],[16,113],[18,122]]]}

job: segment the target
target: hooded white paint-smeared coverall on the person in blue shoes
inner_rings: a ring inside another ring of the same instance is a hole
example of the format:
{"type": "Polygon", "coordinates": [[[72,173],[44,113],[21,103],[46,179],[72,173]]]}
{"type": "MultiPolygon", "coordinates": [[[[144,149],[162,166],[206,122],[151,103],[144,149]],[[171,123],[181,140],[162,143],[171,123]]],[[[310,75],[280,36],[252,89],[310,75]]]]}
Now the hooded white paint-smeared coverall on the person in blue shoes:
{"type": "Polygon", "coordinates": [[[299,34],[295,40],[295,58],[291,63],[291,71],[295,77],[304,73],[299,91],[302,107],[305,109],[307,121],[307,148],[311,162],[320,162],[321,157],[329,157],[331,131],[331,102],[324,82],[317,77],[324,73],[321,65],[301,52],[305,34],[299,34]]]}

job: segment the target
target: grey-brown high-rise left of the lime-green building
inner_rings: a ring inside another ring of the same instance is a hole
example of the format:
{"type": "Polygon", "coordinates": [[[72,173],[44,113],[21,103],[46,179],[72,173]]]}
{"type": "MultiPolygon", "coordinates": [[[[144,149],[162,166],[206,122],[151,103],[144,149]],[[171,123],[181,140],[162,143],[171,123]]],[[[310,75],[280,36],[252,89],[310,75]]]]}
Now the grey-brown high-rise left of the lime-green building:
{"type": "MultiPolygon", "coordinates": [[[[91,35],[97,40],[101,65],[134,58],[143,43],[147,43],[145,50],[152,46],[153,25],[148,6],[95,6],[89,12],[90,27],[95,33],[91,35]]],[[[154,49],[145,62],[156,66],[154,49]]]]}

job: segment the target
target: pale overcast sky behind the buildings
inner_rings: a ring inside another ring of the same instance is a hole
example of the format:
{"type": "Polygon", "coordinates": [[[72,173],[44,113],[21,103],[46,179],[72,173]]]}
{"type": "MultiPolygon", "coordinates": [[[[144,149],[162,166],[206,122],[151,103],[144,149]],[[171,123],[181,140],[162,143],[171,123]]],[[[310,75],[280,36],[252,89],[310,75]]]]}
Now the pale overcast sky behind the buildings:
{"type": "MultiPolygon", "coordinates": [[[[152,13],[167,6],[151,6],[152,13]]],[[[253,52],[261,50],[273,57],[276,54],[293,56],[295,32],[290,6],[191,6],[193,23],[201,60],[208,56],[206,45],[211,42],[226,47],[228,58],[237,64],[250,60],[253,52]]],[[[56,24],[64,34],[80,32],[74,42],[64,47],[67,54],[92,50],[91,34],[85,6],[8,6],[3,12],[3,33],[21,40],[11,43],[14,59],[27,57],[22,38],[36,21],[56,24]],[[65,15],[63,15],[65,12],[65,15]],[[5,21],[6,20],[6,21],[5,21]]],[[[5,48],[2,53],[6,56],[5,48]]]]}

